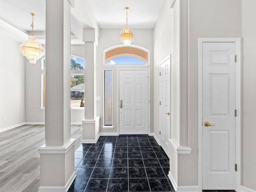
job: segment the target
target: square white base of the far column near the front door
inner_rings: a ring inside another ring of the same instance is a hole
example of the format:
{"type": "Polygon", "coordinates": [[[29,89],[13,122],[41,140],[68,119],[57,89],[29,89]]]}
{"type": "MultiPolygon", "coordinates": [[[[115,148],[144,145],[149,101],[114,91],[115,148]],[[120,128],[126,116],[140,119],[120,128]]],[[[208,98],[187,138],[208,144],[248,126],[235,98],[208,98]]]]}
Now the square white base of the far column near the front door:
{"type": "Polygon", "coordinates": [[[100,137],[100,116],[96,116],[95,119],[84,119],[82,143],[96,143],[100,137]]]}

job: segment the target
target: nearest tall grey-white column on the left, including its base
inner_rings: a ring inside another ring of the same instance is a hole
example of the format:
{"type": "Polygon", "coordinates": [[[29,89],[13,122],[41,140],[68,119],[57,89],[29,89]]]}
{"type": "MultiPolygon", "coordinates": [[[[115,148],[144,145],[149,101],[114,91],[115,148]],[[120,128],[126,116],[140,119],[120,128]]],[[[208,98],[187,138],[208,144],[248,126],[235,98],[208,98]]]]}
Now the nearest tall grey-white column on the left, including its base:
{"type": "Polygon", "coordinates": [[[70,0],[46,0],[45,145],[39,192],[66,192],[76,177],[70,129],[70,0]]]}

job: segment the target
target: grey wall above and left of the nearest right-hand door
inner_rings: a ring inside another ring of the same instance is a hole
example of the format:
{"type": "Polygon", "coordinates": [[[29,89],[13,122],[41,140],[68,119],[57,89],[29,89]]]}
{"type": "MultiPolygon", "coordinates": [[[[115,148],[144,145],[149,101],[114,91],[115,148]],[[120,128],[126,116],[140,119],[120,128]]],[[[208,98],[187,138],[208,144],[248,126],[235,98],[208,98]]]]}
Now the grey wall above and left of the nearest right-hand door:
{"type": "Polygon", "coordinates": [[[241,37],[240,0],[189,1],[188,146],[192,154],[182,158],[180,185],[197,185],[198,164],[198,38],[241,37]],[[218,14],[217,14],[218,13],[218,14]],[[188,174],[188,172],[190,174],[188,174]],[[193,178],[193,179],[191,179],[193,178]]]}

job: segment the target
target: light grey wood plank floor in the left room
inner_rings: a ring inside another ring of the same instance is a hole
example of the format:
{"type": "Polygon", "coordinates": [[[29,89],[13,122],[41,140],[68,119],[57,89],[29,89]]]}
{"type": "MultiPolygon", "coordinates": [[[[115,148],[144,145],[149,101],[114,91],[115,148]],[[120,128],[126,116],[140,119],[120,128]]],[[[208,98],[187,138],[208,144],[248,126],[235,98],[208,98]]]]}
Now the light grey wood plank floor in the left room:
{"type": "MultiPolygon", "coordinates": [[[[75,149],[82,142],[82,125],[71,126],[75,149]]],[[[38,192],[44,125],[24,125],[0,133],[0,192],[38,192]]]]}

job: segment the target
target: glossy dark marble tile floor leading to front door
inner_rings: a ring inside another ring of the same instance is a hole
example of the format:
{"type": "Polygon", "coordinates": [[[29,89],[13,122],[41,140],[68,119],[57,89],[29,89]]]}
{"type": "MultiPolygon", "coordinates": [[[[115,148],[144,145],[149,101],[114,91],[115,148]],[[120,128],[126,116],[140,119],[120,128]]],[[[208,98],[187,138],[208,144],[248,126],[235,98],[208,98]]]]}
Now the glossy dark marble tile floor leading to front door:
{"type": "Polygon", "coordinates": [[[68,192],[172,192],[169,159],[153,136],[100,136],[75,152],[68,192]]]}

